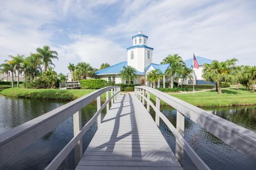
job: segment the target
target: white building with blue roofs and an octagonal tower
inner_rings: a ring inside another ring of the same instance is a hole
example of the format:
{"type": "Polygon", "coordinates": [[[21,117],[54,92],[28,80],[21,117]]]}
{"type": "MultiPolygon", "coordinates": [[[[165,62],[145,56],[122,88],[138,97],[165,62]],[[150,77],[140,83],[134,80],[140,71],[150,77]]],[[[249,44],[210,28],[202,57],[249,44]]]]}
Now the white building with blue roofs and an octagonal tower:
{"type": "MultiPolygon", "coordinates": [[[[127,48],[127,62],[117,63],[105,69],[99,70],[95,72],[96,79],[105,79],[107,81],[113,81],[115,83],[126,83],[124,80],[121,80],[120,74],[121,71],[126,66],[132,66],[137,70],[137,79],[133,83],[144,84],[145,82],[145,72],[146,75],[148,72],[154,69],[159,69],[163,74],[165,74],[166,70],[169,68],[170,64],[154,64],[152,63],[153,59],[153,50],[147,46],[148,36],[145,36],[139,32],[138,35],[132,37],[133,46],[127,48]]],[[[210,82],[205,82],[202,78],[202,70],[204,63],[211,63],[212,60],[209,60],[204,57],[196,57],[197,62],[199,64],[199,68],[195,69],[195,81],[198,84],[207,84],[210,82]]],[[[192,58],[185,61],[187,67],[191,67],[193,65],[192,58]]],[[[163,87],[165,88],[165,82],[169,81],[169,78],[163,77],[163,87]]],[[[181,79],[177,78],[176,82],[181,84],[181,79]]],[[[183,84],[193,84],[193,80],[185,80],[183,84]]],[[[149,82],[146,81],[146,86],[151,86],[149,82]]],[[[157,87],[160,87],[160,82],[157,83],[157,87]]]]}

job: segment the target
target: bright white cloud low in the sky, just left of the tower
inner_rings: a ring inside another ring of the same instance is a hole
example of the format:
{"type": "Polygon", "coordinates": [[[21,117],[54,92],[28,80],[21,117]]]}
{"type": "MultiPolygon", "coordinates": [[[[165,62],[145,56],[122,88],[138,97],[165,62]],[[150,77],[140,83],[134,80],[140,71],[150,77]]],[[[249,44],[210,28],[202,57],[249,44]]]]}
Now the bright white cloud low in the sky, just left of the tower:
{"type": "Polygon", "coordinates": [[[68,63],[86,62],[99,68],[102,63],[110,65],[126,60],[126,50],[113,41],[89,35],[71,35],[74,43],[57,48],[58,70],[67,70],[68,63]]]}

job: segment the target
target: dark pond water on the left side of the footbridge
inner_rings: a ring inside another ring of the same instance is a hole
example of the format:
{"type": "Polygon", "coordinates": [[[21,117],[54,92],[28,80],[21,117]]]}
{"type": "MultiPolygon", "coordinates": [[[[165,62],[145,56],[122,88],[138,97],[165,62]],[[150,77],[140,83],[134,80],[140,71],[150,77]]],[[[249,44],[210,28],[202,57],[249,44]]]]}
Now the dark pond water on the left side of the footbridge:
{"type": "MultiPolygon", "coordinates": [[[[0,133],[38,117],[54,108],[64,105],[62,101],[47,101],[37,99],[18,99],[0,96],[0,133]]],[[[95,104],[82,109],[82,125],[97,111],[95,104]]],[[[106,111],[102,112],[104,116],[106,111]]],[[[102,118],[103,118],[102,116],[102,118]]],[[[97,124],[95,123],[83,137],[83,149],[89,145],[97,124]]],[[[73,118],[69,117],[57,128],[47,133],[36,143],[23,150],[0,169],[44,169],[51,160],[73,138],[73,118]]],[[[74,151],[60,165],[59,169],[74,169],[74,151]]]]}

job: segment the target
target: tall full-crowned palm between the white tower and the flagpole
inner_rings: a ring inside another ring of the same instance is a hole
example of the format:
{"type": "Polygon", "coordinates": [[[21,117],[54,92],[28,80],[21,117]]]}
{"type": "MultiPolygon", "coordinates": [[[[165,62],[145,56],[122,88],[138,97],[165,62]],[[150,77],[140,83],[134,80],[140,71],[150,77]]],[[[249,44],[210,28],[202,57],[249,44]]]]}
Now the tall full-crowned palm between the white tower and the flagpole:
{"type": "Polygon", "coordinates": [[[165,74],[170,77],[170,87],[173,89],[173,79],[175,75],[177,77],[180,76],[182,72],[182,66],[185,65],[185,63],[183,62],[182,57],[178,56],[178,54],[168,55],[167,57],[165,57],[161,64],[166,63],[170,63],[170,67],[166,70],[165,74]]]}

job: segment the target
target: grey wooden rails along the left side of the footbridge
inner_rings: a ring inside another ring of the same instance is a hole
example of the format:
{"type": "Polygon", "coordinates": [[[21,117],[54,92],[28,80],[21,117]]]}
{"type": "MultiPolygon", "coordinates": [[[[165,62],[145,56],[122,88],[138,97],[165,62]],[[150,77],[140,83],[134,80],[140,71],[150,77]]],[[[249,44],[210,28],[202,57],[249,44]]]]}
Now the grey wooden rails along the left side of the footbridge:
{"type": "MultiPolygon", "coordinates": [[[[100,113],[103,108],[106,106],[109,107],[109,102],[113,101],[113,99],[115,101],[116,95],[119,94],[120,90],[121,88],[119,86],[109,86],[95,90],[84,97],[70,101],[69,103],[60,106],[53,111],[45,113],[31,121],[28,121],[0,134],[0,166],[13,158],[23,149],[36,142],[39,138],[43,137],[46,133],[52,131],[56,126],[58,126],[70,116],[74,116],[77,113],[81,116],[82,108],[90,104],[95,98],[97,98],[98,101],[98,98],[100,99],[100,95],[106,92],[106,102],[100,108],[98,108],[97,113],[95,113],[91,120],[86,123],[82,130],[78,129],[79,132],[77,134],[74,133],[74,138],[71,139],[68,145],[66,145],[65,148],[63,148],[57,155],[57,157],[53,159],[51,164],[47,166],[51,167],[51,169],[57,169],[57,164],[61,164],[63,159],[66,158],[67,154],[69,154],[69,152],[74,148],[78,141],[82,139],[84,133],[90,128],[95,119],[98,118],[99,120],[100,113]],[[109,90],[111,90],[110,98],[108,98],[109,90]]],[[[73,123],[75,122],[73,121],[73,123]]],[[[78,123],[81,125],[81,122],[78,123]]],[[[82,145],[80,149],[82,149],[82,145]]]]}

